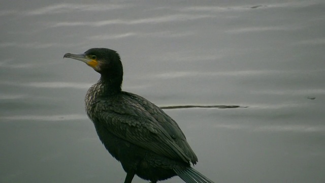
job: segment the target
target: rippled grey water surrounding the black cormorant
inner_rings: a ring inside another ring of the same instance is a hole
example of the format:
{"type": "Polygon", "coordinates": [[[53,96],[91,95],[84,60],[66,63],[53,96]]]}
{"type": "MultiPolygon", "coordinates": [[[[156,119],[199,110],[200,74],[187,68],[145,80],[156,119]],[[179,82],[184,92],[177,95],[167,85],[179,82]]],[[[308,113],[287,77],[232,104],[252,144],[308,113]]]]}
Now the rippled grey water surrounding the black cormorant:
{"type": "Polygon", "coordinates": [[[84,112],[99,74],[62,58],[92,47],[117,50],[123,90],[158,106],[247,106],[165,109],[215,182],[325,182],[324,10],[322,0],[1,1],[0,182],[123,182],[84,112]]]}

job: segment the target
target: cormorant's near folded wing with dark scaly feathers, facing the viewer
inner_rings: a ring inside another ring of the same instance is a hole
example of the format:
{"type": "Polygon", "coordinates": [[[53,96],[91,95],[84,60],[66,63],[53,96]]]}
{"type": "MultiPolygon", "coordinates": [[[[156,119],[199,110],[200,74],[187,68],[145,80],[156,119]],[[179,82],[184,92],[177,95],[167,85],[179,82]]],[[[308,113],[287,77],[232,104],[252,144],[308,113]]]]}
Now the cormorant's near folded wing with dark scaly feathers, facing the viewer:
{"type": "MultiPolygon", "coordinates": [[[[93,104],[96,111],[94,117],[104,123],[109,132],[161,156],[184,162],[197,161],[186,153],[187,149],[176,143],[169,132],[137,100],[127,95],[119,96],[116,99],[119,102],[112,100],[114,99],[102,98],[93,104]]],[[[187,144],[186,140],[185,143],[187,144]]]]}

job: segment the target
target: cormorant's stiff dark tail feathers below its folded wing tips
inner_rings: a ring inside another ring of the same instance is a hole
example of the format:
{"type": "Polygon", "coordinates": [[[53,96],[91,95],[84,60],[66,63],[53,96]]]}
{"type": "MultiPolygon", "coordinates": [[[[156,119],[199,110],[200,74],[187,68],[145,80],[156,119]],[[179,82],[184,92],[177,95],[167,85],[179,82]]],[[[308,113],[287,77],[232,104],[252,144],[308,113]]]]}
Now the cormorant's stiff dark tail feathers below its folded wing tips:
{"type": "Polygon", "coordinates": [[[174,169],[174,171],[186,183],[214,183],[192,167],[186,169],[174,169]]]}

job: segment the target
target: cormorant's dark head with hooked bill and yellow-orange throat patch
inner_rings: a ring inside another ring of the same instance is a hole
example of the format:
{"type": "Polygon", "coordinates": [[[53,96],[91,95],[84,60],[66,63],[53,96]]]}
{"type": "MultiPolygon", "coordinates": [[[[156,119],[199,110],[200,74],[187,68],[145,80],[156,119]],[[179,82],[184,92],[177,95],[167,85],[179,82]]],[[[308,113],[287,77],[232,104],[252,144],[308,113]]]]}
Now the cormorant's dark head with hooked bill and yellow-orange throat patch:
{"type": "Polygon", "coordinates": [[[108,48],[91,48],[82,54],[66,53],[63,58],[73,58],[86,63],[103,75],[123,75],[119,54],[108,48]]]}

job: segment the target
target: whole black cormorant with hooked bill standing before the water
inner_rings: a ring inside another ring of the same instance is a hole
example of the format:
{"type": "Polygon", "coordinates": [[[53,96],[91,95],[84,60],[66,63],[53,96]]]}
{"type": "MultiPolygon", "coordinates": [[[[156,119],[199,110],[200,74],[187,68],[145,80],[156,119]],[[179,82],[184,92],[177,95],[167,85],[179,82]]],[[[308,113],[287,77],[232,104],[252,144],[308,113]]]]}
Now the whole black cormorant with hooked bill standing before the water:
{"type": "Polygon", "coordinates": [[[152,183],[175,175],[187,183],[213,182],[191,168],[198,158],[175,120],[148,100],[121,90],[123,68],[116,51],[91,48],[64,57],[101,74],[86,94],[86,112],[106,149],[121,162],[124,183],[131,183],[134,175],[152,183]]]}

